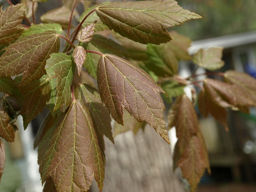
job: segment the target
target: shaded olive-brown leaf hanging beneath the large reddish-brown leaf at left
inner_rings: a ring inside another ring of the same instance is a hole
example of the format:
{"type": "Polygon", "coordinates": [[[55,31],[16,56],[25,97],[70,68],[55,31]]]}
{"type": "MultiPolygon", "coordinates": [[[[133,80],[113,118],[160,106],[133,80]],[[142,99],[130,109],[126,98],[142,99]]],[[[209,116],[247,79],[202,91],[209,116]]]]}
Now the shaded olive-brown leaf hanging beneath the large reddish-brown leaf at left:
{"type": "MultiPolygon", "coordinates": [[[[19,84],[20,77],[15,78],[15,81],[19,84]]],[[[24,128],[26,129],[28,123],[43,111],[46,102],[50,99],[51,87],[48,78],[43,76],[30,84],[20,86],[20,91],[24,97],[22,99],[23,110],[21,114],[24,128]]]]}

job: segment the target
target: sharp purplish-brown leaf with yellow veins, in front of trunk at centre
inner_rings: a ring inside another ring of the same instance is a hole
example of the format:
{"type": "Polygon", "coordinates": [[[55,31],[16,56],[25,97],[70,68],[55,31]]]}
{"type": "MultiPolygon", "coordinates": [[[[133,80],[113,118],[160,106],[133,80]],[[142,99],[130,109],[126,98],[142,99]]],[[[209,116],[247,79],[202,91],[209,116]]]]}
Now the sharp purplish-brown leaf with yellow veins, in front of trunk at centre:
{"type": "Polygon", "coordinates": [[[100,97],[110,114],[124,125],[125,108],[139,122],[146,121],[169,143],[163,116],[162,88],[141,68],[112,54],[98,62],[97,81],[100,97]]]}

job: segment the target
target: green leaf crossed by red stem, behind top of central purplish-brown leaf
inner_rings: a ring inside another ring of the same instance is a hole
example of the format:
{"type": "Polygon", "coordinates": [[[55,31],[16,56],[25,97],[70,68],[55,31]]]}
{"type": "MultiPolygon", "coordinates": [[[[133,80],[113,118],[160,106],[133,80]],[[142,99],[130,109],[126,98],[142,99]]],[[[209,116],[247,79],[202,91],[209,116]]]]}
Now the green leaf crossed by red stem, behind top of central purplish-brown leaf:
{"type": "MultiPolygon", "coordinates": [[[[98,34],[94,35],[90,42],[82,44],[82,46],[87,50],[93,50],[100,53],[111,53],[120,57],[127,55],[126,50],[120,44],[98,34]]],[[[100,55],[87,52],[87,60],[84,62],[84,67],[95,79],[97,78],[96,70],[99,59],[100,55]]]]}

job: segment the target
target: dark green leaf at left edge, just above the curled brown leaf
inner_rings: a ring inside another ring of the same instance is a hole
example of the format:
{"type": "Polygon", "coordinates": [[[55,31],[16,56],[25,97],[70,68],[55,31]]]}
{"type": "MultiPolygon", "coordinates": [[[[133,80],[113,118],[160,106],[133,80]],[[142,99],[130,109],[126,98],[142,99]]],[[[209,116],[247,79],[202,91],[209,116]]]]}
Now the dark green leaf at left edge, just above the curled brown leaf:
{"type": "Polygon", "coordinates": [[[0,78],[0,92],[4,92],[15,97],[23,97],[20,92],[20,88],[15,84],[12,78],[0,78]]]}

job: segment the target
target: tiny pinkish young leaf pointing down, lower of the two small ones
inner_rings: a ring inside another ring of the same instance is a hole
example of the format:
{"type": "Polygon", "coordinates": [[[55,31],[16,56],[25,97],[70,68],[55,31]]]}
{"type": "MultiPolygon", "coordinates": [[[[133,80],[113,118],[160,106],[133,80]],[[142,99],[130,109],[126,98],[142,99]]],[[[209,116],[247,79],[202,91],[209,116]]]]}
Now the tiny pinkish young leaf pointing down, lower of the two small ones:
{"type": "Polygon", "coordinates": [[[77,66],[78,76],[80,76],[81,68],[86,60],[86,51],[82,46],[76,46],[73,51],[73,59],[77,66]]]}

